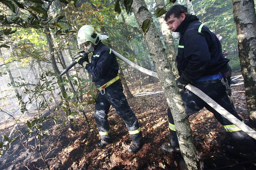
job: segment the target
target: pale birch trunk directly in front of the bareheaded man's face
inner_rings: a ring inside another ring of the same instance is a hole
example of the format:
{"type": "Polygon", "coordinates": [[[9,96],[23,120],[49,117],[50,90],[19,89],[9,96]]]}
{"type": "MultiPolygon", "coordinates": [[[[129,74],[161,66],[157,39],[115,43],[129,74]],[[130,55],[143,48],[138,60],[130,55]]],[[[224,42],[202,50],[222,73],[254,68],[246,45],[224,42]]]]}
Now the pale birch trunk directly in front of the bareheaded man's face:
{"type": "MultiPolygon", "coordinates": [[[[156,0],[156,6],[164,6],[164,0],[156,0]]],[[[176,52],[175,52],[174,42],[173,42],[172,34],[171,34],[170,30],[168,29],[168,25],[164,21],[164,15],[159,17],[159,23],[161,25],[162,34],[164,37],[164,45],[165,45],[165,48],[167,51],[167,59],[172,67],[172,73],[173,73],[174,77],[178,78],[179,72],[177,69],[176,52]]]]}

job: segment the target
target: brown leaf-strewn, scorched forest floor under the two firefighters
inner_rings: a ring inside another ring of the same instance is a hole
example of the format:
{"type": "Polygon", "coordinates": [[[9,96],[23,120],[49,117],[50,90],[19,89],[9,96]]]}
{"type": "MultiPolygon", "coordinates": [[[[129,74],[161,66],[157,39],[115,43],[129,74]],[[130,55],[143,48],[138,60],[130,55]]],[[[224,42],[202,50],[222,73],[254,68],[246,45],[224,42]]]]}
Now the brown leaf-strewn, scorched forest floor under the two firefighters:
{"type": "MultiPolygon", "coordinates": [[[[138,82],[133,87],[129,87],[133,94],[139,92],[138,82]]],[[[148,83],[145,87],[146,91],[162,90],[159,82],[148,83]]],[[[233,92],[243,90],[244,85],[232,86],[233,92]]],[[[233,99],[236,109],[239,110],[238,113],[248,119],[245,111],[245,93],[234,93],[233,99]]],[[[145,140],[143,148],[138,153],[127,152],[131,139],[123,120],[117,116],[114,109],[110,109],[108,117],[114,142],[105,149],[95,148],[94,145],[100,141],[100,138],[93,112],[89,112],[87,113],[89,129],[84,119],[77,120],[78,125],[75,130],[67,127],[53,130],[56,128],[54,123],[46,126],[51,135],[43,136],[42,152],[44,156],[48,153],[46,159],[50,168],[60,170],[180,169],[180,162],[182,162],[180,154],[164,153],[159,149],[161,144],[168,143],[169,140],[167,103],[164,94],[138,96],[129,99],[128,102],[139,119],[145,140]]],[[[256,161],[248,161],[225,151],[224,131],[211,112],[205,109],[200,110],[190,116],[189,120],[196,148],[204,162],[204,169],[256,169],[256,161]]],[[[44,169],[45,167],[40,154],[26,149],[19,144],[19,141],[12,144],[11,149],[0,158],[0,162],[0,169],[8,170],[44,169]]]]}

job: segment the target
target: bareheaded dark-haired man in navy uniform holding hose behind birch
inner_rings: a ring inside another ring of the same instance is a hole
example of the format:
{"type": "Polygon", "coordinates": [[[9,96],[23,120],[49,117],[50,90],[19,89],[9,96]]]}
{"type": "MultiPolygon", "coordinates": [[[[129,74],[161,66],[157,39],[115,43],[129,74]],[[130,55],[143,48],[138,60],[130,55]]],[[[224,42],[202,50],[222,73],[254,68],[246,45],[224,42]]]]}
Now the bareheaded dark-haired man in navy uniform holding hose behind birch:
{"type": "MultiPolygon", "coordinates": [[[[199,22],[195,15],[188,14],[187,8],[183,5],[174,5],[164,19],[173,35],[180,38],[176,57],[180,77],[176,83],[182,89],[180,95],[187,115],[190,116],[205,107],[214,114],[229,135],[230,145],[227,148],[243,154],[252,154],[254,143],[249,135],[222,117],[198,96],[185,89],[187,84],[192,84],[243,121],[233,110],[227,95],[229,89],[224,86],[224,84],[227,86],[227,80],[230,79],[227,67],[229,59],[222,57],[219,39],[209,28],[199,22]]],[[[175,124],[169,108],[167,114],[171,134],[170,143],[161,145],[160,149],[165,152],[180,152],[175,124]]]]}

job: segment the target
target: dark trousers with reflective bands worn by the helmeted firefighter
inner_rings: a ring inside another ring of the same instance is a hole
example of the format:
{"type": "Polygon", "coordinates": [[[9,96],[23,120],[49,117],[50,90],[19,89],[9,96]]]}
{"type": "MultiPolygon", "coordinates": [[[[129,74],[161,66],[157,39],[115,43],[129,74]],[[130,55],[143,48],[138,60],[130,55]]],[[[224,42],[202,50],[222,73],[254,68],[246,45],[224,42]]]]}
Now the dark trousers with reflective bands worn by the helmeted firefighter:
{"type": "MultiPolygon", "coordinates": [[[[103,90],[102,93],[104,93],[103,90]]],[[[105,94],[102,95],[99,92],[96,99],[94,118],[98,126],[101,140],[108,143],[112,141],[108,124],[110,105],[112,105],[116,113],[123,118],[126,128],[131,135],[132,142],[137,144],[141,143],[143,138],[140,124],[124,96],[123,86],[120,81],[107,87],[105,94]]]]}

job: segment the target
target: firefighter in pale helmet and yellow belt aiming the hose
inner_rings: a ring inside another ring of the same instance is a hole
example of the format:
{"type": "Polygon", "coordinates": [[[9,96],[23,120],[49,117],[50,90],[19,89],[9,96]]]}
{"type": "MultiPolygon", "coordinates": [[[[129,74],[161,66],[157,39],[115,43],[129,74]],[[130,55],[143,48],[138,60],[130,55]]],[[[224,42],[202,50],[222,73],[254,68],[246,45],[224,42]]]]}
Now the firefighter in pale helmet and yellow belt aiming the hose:
{"type": "Polygon", "coordinates": [[[84,25],[79,29],[77,42],[84,49],[80,52],[84,57],[74,57],[73,60],[76,60],[92,75],[92,82],[99,87],[94,118],[101,140],[96,146],[104,148],[113,142],[108,124],[108,111],[112,105],[116,113],[123,118],[131,135],[132,145],[128,152],[138,152],[143,145],[142,132],[137,117],[124,96],[123,86],[117,75],[119,66],[115,54],[108,46],[102,44],[101,35],[91,25],[84,25]],[[91,63],[88,53],[93,53],[91,63]]]}

